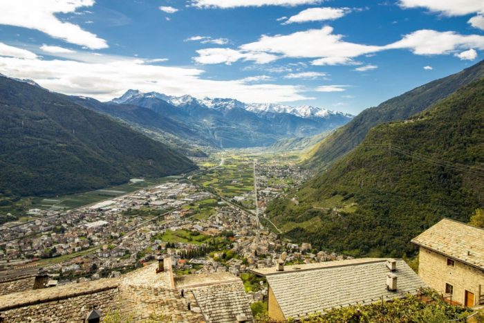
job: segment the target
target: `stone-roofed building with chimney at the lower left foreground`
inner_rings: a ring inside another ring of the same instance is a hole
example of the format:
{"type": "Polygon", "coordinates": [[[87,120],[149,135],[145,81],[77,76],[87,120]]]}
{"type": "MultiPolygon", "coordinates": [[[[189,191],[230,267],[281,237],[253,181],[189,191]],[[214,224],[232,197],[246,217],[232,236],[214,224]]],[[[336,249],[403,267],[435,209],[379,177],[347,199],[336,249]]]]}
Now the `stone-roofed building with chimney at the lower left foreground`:
{"type": "Polygon", "coordinates": [[[0,295],[0,322],[87,322],[116,312],[132,322],[254,322],[240,278],[191,276],[174,277],[166,258],[120,277],[0,295]]]}

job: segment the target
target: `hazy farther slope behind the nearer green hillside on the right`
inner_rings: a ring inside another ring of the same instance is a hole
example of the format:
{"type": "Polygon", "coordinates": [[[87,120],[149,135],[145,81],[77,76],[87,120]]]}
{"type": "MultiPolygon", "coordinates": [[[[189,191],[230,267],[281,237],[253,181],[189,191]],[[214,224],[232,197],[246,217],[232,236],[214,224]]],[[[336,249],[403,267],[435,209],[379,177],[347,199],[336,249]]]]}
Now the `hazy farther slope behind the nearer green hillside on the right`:
{"type": "Polygon", "coordinates": [[[306,156],[306,165],[319,168],[332,163],[360,144],[372,127],[384,122],[405,120],[481,77],[484,77],[484,61],[454,75],[419,86],[378,107],[362,111],[351,122],[315,145],[306,156]]]}

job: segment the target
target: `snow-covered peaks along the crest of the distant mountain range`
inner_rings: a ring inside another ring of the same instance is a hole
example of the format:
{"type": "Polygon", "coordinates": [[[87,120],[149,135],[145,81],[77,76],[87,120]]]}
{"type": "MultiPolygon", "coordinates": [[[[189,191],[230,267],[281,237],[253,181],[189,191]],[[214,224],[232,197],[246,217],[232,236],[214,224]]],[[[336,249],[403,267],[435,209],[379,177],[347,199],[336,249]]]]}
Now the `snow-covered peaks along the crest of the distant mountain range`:
{"type": "Polygon", "coordinates": [[[138,90],[129,90],[120,98],[115,98],[112,102],[117,104],[126,103],[132,100],[141,99],[141,98],[158,98],[164,100],[170,104],[173,104],[175,107],[186,106],[188,104],[199,104],[201,106],[215,109],[215,110],[230,110],[234,108],[245,109],[247,111],[253,113],[288,113],[292,114],[293,116],[298,116],[301,118],[329,118],[331,116],[344,116],[347,118],[353,118],[348,113],[338,112],[338,111],[331,111],[328,109],[320,108],[320,107],[312,107],[309,105],[301,105],[297,107],[293,107],[286,104],[274,104],[274,103],[245,103],[239,100],[230,99],[230,98],[203,98],[203,99],[196,99],[191,95],[182,95],[182,96],[174,96],[174,95],[165,95],[162,93],[156,92],[148,92],[142,93],[138,90]]]}

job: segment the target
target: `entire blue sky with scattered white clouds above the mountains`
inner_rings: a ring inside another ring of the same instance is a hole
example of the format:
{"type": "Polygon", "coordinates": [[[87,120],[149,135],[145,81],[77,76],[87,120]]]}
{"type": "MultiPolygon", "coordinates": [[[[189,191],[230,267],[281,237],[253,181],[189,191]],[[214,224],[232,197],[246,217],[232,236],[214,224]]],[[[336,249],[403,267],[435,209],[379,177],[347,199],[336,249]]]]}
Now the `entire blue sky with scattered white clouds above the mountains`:
{"type": "Polygon", "coordinates": [[[357,114],[484,54],[483,0],[0,0],[0,73],[357,114]]]}

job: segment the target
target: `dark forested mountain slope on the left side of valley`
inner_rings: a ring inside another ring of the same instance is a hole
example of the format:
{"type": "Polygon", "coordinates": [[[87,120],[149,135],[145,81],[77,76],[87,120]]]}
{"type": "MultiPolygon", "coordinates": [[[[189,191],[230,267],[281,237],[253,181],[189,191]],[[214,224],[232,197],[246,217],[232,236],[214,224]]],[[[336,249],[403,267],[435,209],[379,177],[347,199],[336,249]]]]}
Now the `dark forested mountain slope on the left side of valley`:
{"type": "Polygon", "coordinates": [[[53,195],[195,165],[63,95],[0,76],[0,195],[53,195]]]}

